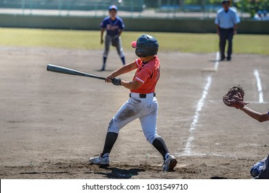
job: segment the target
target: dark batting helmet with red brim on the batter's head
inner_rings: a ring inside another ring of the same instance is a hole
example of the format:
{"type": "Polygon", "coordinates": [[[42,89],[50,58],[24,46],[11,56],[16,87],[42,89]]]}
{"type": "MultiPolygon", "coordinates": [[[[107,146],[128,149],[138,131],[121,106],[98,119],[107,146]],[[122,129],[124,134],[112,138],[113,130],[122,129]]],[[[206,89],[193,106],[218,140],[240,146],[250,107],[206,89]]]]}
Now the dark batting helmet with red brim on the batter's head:
{"type": "Polygon", "coordinates": [[[155,37],[143,34],[137,41],[132,41],[132,48],[136,48],[135,54],[137,54],[137,57],[150,57],[157,54],[159,43],[155,37]]]}

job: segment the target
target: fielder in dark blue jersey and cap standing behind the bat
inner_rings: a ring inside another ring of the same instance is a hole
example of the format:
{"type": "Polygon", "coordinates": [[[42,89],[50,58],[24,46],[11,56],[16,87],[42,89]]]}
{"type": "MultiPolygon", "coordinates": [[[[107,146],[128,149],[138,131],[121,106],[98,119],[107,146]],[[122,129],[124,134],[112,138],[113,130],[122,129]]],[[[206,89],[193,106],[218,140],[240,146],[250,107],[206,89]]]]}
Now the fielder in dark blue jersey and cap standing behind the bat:
{"type": "Polygon", "coordinates": [[[117,48],[117,52],[121,57],[121,61],[123,65],[125,65],[125,56],[121,45],[120,37],[125,26],[123,20],[120,17],[117,17],[117,6],[110,6],[108,10],[110,16],[103,19],[100,24],[101,44],[103,44],[103,32],[106,30],[105,50],[103,51],[103,65],[101,71],[106,69],[106,59],[108,57],[108,52],[111,44],[117,48]]]}

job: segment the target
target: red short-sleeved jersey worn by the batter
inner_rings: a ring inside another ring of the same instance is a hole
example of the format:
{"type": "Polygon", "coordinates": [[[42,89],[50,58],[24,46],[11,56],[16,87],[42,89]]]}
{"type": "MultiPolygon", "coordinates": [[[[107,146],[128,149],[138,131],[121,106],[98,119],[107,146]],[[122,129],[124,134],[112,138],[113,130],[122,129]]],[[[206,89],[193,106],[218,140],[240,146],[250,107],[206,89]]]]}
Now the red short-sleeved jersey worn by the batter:
{"type": "Polygon", "coordinates": [[[147,63],[143,63],[141,59],[136,59],[137,72],[132,81],[137,80],[143,85],[140,88],[131,90],[139,94],[149,94],[155,92],[157,81],[160,77],[160,61],[157,56],[147,63]]]}

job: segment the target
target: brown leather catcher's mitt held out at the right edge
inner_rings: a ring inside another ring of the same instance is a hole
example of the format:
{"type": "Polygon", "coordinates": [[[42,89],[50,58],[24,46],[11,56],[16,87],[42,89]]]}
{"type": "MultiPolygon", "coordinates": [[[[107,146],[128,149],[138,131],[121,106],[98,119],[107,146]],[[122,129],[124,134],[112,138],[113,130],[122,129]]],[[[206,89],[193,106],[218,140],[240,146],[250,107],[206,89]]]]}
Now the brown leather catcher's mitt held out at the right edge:
{"type": "Polygon", "coordinates": [[[234,107],[237,109],[243,108],[243,106],[248,104],[245,101],[243,101],[244,94],[245,92],[243,91],[241,85],[234,86],[230,88],[227,94],[223,96],[223,102],[229,107],[234,107]]]}

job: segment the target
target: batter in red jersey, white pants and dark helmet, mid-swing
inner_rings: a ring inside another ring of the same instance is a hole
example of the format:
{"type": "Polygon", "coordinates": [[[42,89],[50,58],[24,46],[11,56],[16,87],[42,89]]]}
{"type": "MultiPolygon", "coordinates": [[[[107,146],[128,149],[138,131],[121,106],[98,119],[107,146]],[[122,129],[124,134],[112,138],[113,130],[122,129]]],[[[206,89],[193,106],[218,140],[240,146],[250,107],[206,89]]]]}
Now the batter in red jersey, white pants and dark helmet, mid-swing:
{"type": "Polygon", "coordinates": [[[155,97],[155,87],[160,77],[160,61],[157,57],[159,43],[155,37],[143,34],[137,41],[132,42],[132,47],[135,48],[139,59],[123,65],[106,77],[107,83],[130,89],[130,99],[111,119],[103,152],[99,156],[90,158],[89,161],[93,164],[109,165],[110,151],[117,140],[119,130],[131,121],[139,119],[146,140],[163,156],[162,170],[172,171],[177,165],[177,160],[169,153],[163,138],[157,134],[158,102],[155,97]],[[132,70],[137,70],[132,81],[117,78],[132,70]]]}

